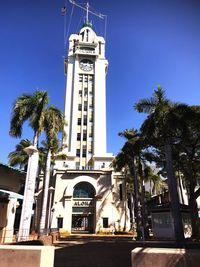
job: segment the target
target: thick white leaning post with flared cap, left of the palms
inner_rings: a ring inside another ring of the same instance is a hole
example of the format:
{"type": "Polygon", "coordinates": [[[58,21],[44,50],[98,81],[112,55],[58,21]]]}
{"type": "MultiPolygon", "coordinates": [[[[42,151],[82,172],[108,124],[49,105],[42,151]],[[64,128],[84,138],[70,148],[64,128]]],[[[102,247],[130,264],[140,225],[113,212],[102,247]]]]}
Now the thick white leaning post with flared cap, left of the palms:
{"type": "Polygon", "coordinates": [[[26,241],[29,238],[31,216],[34,203],[35,181],[38,171],[39,153],[37,148],[31,145],[29,147],[26,147],[24,151],[28,154],[29,159],[17,241],[26,241]]]}

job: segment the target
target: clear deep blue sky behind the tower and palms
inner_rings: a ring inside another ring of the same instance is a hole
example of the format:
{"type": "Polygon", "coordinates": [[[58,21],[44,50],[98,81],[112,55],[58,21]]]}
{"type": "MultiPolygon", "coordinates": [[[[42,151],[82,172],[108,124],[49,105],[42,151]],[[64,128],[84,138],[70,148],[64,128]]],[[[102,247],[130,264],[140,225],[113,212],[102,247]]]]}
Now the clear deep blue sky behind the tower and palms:
{"type": "MultiPolygon", "coordinates": [[[[81,2],[81,1],[78,1],[81,2]]],[[[168,98],[188,104],[200,101],[199,0],[91,0],[107,15],[107,148],[116,154],[123,145],[118,136],[139,128],[144,115],[134,111],[141,98],[150,97],[160,84],[168,98]]],[[[9,137],[12,104],[22,93],[47,90],[50,104],[64,110],[64,0],[0,1],[0,162],[20,139],[9,137]]],[[[83,13],[74,9],[69,33],[77,32],[83,13]]],[[[104,22],[93,20],[97,34],[104,22]]],[[[65,26],[66,25],[66,26],[65,26]]],[[[24,125],[22,138],[32,139],[24,125]]]]}

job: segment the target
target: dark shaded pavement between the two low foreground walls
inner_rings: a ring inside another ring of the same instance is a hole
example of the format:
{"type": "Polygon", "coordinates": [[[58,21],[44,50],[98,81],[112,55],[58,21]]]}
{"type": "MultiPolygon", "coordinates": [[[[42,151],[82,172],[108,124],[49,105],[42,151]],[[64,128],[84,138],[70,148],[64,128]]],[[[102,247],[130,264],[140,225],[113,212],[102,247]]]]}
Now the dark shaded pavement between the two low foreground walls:
{"type": "Polygon", "coordinates": [[[173,243],[143,244],[131,236],[69,236],[56,244],[54,267],[130,267],[131,250],[138,246],[173,243]]]}

